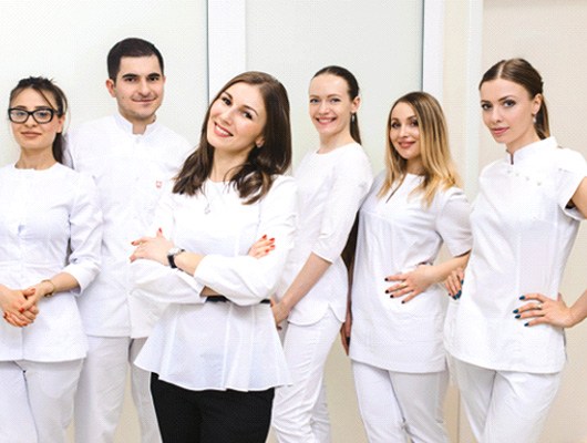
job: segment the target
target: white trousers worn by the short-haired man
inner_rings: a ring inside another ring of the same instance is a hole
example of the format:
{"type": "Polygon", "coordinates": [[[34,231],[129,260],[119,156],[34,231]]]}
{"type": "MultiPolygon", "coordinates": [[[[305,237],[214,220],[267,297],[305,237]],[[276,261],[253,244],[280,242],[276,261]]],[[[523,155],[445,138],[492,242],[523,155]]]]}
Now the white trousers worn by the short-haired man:
{"type": "Polygon", "coordinates": [[[151,396],[151,373],[132,362],[146,339],[87,337],[89,351],[75,395],[75,441],[112,443],[121,418],[131,364],[131,387],[141,426],[141,442],[161,443],[151,396]]]}

